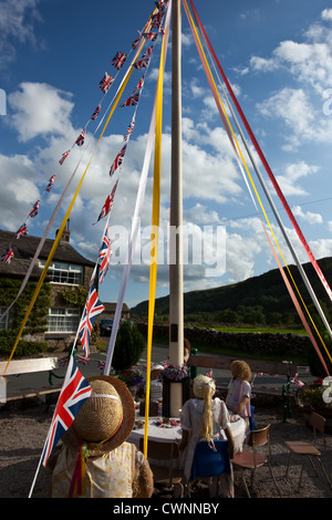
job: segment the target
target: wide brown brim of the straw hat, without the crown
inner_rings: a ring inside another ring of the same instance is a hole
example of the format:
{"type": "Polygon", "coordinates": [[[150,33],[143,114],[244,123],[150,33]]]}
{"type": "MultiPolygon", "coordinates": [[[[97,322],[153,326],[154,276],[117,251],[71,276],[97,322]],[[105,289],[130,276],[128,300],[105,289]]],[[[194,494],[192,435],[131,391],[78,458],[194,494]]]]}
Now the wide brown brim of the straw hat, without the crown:
{"type": "Polygon", "coordinates": [[[82,444],[86,443],[87,450],[91,456],[100,456],[121,446],[128,438],[135,425],[135,404],[133,396],[126,385],[117,377],[112,377],[108,375],[96,375],[87,377],[87,382],[95,379],[106,381],[114,386],[122,402],[123,420],[116,434],[105,443],[90,443],[85,439],[82,439],[75,431],[73,425],[65,431],[65,434],[62,436],[62,441],[64,445],[76,449],[82,446],[82,444]]]}

